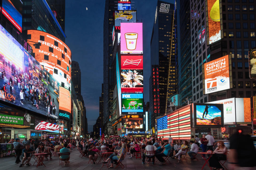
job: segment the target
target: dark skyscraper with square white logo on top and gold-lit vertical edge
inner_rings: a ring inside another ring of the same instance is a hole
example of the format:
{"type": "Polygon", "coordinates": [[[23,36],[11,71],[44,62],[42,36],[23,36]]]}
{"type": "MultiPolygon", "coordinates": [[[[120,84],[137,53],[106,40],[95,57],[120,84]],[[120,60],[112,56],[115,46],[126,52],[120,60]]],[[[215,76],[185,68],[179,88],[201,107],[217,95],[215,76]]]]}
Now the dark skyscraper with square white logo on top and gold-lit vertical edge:
{"type": "MultiPolygon", "coordinates": [[[[161,116],[168,110],[167,99],[177,92],[176,65],[177,65],[177,25],[174,4],[158,1],[155,11],[153,31],[151,35],[151,65],[159,69],[159,96],[154,95],[154,88],[150,88],[150,111],[154,113],[154,100],[159,101],[157,113],[161,116]],[[155,66],[158,65],[158,66],[155,66]]],[[[152,68],[153,69],[153,68],[152,68]]],[[[153,84],[151,70],[150,83],[153,84]]],[[[154,117],[153,116],[153,117],[154,117]]],[[[152,117],[152,118],[153,118],[152,117]]]]}

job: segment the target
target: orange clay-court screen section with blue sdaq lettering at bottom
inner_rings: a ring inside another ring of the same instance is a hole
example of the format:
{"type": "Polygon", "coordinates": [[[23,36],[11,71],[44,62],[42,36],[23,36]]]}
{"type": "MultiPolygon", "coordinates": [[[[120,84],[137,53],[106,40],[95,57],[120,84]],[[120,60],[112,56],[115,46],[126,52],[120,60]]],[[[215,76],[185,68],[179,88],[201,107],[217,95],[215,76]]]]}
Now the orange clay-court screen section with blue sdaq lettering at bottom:
{"type": "Polygon", "coordinates": [[[64,87],[59,87],[59,117],[71,120],[71,95],[64,87]]]}

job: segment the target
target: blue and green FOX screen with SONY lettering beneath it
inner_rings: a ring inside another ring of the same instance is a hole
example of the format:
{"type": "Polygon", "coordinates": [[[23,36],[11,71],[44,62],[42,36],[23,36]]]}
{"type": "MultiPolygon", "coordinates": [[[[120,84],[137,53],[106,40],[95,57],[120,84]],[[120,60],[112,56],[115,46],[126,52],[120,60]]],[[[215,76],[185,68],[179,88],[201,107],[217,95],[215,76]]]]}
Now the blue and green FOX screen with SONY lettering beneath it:
{"type": "Polygon", "coordinates": [[[143,114],[143,94],[122,94],[122,114],[143,114]]]}

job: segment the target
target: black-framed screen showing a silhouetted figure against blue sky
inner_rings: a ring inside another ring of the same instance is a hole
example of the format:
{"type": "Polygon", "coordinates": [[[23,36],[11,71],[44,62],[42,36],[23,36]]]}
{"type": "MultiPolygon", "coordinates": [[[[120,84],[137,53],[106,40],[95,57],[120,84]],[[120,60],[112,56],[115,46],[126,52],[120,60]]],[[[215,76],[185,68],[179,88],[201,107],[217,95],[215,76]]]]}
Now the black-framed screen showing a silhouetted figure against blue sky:
{"type": "Polygon", "coordinates": [[[224,126],[223,104],[194,104],[194,126],[224,126]]]}

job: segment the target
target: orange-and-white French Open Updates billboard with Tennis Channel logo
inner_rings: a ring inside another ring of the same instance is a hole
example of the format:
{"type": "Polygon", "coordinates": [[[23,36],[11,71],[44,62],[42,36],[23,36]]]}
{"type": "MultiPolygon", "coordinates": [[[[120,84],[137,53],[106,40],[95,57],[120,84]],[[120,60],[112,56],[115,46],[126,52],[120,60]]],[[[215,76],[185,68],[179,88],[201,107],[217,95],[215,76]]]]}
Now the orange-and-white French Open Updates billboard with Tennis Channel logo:
{"type": "Polygon", "coordinates": [[[204,94],[232,88],[231,56],[204,63],[203,76],[204,94]]]}

